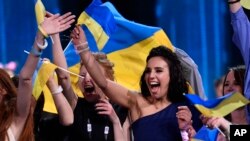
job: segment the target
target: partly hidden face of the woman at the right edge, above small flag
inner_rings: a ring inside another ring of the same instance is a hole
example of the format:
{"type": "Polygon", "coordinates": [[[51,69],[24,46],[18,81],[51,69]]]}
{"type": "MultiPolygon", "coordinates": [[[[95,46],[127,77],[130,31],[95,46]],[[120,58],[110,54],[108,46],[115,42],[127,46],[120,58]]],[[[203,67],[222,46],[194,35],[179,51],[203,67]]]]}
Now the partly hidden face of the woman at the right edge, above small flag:
{"type": "Polygon", "coordinates": [[[242,93],[242,88],[238,82],[236,82],[234,77],[234,72],[231,70],[227,77],[225,78],[226,81],[224,83],[224,94],[230,92],[240,92],[242,93]]]}

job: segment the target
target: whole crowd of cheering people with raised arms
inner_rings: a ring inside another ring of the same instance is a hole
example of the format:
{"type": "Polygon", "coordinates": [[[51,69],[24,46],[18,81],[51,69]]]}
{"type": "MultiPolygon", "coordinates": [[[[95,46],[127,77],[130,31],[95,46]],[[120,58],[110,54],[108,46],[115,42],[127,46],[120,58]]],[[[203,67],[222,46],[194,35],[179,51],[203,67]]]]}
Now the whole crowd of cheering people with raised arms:
{"type": "MultiPolygon", "coordinates": [[[[250,99],[247,73],[250,23],[239,0],[227,2],[234,29],[233,41],[245,65],[230,68],[219,91],[220,95],[240,92],[250,99]]],[[[48,45],[48,36],[53,39],[52,62],[60,68],[68,68],[59,34],[71,27],[74,18],[70,12],[61,16],[46,13],[18,77],[0,69],[1,141],[188,141],[204,124],[225,131],[226,136],[219,134],[217,140],[230,140],[231,124],[249,124],[249,105],[226,117],[202,115],[183,95],[189,89],[183,67],[176,53],[165,46],[154,47],[149,52],[140,79],[140,92],[116,83],[114,64],[106,54],[90,51],[85,33],[78,25],[70,37],[81,58],[81,77],[77,83],[84,97],[78,97],[73,91],[70,74],[56,69],[46,85],[58,114],[42,115],[43,94],[37,101],[32,97],[32,76],[48,45]]]]}

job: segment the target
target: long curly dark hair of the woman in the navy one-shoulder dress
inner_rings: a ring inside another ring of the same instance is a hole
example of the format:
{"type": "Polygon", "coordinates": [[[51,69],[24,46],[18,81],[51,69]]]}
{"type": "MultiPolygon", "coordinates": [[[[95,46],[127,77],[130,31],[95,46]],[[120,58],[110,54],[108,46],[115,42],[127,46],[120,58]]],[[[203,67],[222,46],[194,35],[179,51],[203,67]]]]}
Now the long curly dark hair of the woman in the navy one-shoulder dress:
{"type": "MultiPolygon", "coordinates": [[[[181,62],[179,61],[177,55],[172,52],[170,49],[168,49],[165,46],[159,46],[156,48],[153,48],[147,57],[147,63],[149,59],[153,57],[160,56],[162,57],[166,63],[169,66],[169,72],[170,72],[170,82],[167,92],[167,99],[171,102],[181,102],[184,101],[183,93],[188,92],[188,85],[187,81],[184,78],[183,75],[183,69],[181,66],[181,62]]],[[[151,94],[149,92],[149,89],[147,87],[146,81],[145,81],[145,70],[141,76],[140,80],[140,86],[141,86],[141,93],[142,96],[147,98],[150,97],[151,94]]]]}

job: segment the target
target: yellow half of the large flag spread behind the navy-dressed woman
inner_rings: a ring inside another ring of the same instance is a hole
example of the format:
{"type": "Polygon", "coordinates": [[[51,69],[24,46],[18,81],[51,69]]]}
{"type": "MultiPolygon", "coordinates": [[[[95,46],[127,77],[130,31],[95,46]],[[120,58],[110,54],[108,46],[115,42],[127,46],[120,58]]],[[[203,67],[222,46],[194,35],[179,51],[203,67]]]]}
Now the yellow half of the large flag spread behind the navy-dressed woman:
{"type": "Polygon", "coordinates": [[[107,54],[115,65],[116,81],[131,90],[140,91],[140,76],[146,66],[146,57],[153,47],[159,45],[165,45],[174,50],[166,34],[163,30],[159,30],[149,38],[128,48],[107,54]]]}

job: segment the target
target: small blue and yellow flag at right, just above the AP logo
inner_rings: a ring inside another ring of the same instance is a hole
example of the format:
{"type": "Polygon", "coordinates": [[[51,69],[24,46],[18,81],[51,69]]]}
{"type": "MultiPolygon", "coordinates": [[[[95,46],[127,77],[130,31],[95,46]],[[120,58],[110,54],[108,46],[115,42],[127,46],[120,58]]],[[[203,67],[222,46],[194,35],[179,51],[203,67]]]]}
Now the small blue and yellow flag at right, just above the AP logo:
{"type": "Polygon", "coordinates": [[[229,93],[223,97],[204,101],[198,95],[185,94],[194,106],[207,117],[224,117],[249,103],[241,93],[229,93]]]}

